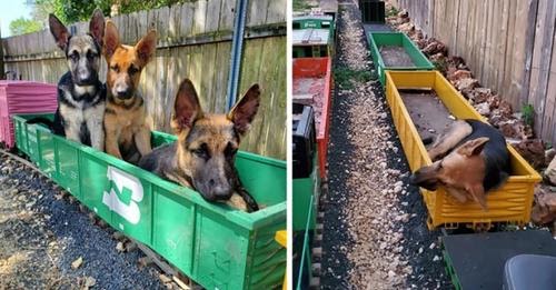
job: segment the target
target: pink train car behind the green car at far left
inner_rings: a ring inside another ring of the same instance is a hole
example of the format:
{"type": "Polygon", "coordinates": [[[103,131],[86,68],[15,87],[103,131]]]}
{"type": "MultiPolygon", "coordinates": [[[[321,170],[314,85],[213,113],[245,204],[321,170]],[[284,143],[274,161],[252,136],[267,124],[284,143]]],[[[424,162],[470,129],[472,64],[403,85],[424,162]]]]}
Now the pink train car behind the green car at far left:
{"type": "Polygon", "coordinates": [[[0,143],[11,149],[14,143],[14,113],[49,113],[57,108],[56,84],[34,81],[0,80],[0,143]]]}

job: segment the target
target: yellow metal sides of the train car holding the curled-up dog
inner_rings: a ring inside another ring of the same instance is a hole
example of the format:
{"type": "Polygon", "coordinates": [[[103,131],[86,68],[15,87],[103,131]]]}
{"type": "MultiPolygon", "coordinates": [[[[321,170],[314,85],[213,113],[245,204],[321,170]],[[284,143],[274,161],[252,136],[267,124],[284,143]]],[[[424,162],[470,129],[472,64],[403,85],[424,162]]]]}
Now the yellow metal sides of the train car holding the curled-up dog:
{"type": "MultiPolygon", "coordinates": [[[[401,88],[430,88],[457,119],[486,121],[438,71],[387,71],[386,99],[411,171],[431,161],[399,96],[398,89],[401,88]]],[[[443,224],[475,227],[492,222],[524,224],[529,221],[534,187],[540,181],[540,176],[512,146],[508,146],[508,151],[513,172],[503,187],[488,192],[488,211],[483,211],[476,202],[457,202],[443,188],[436,191],[421,189],[429,213],[429,229],[443,224]]]]}

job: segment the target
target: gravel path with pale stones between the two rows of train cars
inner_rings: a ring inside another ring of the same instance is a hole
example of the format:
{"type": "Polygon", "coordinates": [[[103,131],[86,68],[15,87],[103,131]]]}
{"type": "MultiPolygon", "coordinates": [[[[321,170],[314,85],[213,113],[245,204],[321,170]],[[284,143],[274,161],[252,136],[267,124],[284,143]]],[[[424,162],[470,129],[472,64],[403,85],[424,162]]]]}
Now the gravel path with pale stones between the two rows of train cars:
{"type": "MultiPolygon", "coordinates": [[[[340,1],[338,28],[335,67],[374,69],[354,2],[340,1]]],[[[450,289],[379,82],[336,88],[321,288],[450,289]]]]}

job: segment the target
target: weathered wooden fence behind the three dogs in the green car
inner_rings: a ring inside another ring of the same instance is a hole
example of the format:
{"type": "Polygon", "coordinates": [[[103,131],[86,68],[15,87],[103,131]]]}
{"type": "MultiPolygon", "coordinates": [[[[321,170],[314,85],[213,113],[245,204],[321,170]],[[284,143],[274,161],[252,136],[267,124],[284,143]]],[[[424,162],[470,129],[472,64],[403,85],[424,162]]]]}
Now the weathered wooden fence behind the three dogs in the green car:
{"type": "MultiPolygon", "coordinates": [[[[158,49],[142,72],[140,91],[155,130],[170,131],[177,87],[190,78],[208,112],[226,111],[236,1],[199,0],[115,17],[121,41],[135,44],[151,27],[158,49]]],[[[261,87],[261,106],[241,148],[286,159],[286,0],[249,1],[241,77],[238,91],[261,87]]],[[[88,22],[75,24],[88,31],[88,22]]],[[[37,33],[2,39],[6,71],[24,80],[57,83],[67,71],[63,53],[52,36],[37,33]]],[[[106,79],[106,61],[100,76],[106,79]]]]}

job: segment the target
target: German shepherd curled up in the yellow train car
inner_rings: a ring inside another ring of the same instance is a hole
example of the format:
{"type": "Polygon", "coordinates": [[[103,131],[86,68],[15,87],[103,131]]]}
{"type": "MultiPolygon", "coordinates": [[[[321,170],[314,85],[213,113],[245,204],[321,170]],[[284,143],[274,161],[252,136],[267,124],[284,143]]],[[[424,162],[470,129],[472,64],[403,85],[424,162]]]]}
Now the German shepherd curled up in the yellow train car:
{"type": "Polygon", "coordinates": [[[477,120],[458,120],[428,150],[434,162],[410,177],[428,190],[444,186],[459,202],[474,200],[488,210],[485,192],[499,187],[510,173],[504,136],[477,120]]]}

